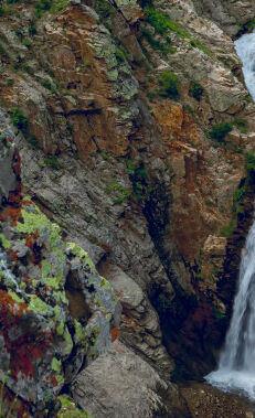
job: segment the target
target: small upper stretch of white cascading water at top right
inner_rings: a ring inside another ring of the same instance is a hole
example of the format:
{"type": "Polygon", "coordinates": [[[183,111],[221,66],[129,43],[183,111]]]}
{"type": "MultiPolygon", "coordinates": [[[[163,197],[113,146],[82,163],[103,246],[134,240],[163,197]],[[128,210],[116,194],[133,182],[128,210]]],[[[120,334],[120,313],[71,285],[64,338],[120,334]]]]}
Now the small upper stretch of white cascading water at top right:
{"type": "Polygon", "coordinates": [[[235,51],[243,63],[245,84],[255,101],[255,32],[235,41],[235,51]]]}

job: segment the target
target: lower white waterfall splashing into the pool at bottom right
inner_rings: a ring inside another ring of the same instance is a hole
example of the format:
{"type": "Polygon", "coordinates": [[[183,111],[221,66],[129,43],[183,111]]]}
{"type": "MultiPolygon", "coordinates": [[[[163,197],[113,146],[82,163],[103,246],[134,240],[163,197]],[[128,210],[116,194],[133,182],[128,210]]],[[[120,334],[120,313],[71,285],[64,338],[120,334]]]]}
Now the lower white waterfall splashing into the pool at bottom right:
{"type": "Polygon", "coordinates": [[[206,381],[255,399],[255,219],[242,251],[238,289],[219,368],[206,381]]]}

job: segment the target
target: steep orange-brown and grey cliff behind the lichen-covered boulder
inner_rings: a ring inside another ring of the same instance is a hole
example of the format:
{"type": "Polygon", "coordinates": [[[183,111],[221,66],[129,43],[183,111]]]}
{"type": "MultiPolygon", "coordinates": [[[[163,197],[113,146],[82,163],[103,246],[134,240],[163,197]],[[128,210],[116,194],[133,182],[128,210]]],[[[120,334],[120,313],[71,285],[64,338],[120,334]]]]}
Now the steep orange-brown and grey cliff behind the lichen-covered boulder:
{"type": "Polygon", "coordinates": [[[231,36],[253,6],[36,4],[0,18],[0,95],[20,131],[23,187],[113,285],[124,351],[173,394],[169,379],[215,364],[252,217],[253,189],[236,191],[254,152],[255,107],[231,36]],[[221,121],[235,126],[224,141],[208,133],[221,121]]]}

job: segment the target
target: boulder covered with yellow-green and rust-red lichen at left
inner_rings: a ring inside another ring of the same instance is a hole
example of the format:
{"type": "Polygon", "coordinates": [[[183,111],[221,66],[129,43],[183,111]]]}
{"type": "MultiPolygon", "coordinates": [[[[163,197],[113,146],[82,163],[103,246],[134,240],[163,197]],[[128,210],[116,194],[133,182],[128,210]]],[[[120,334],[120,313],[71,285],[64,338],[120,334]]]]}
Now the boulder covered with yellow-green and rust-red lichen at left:
{"type": "Polygon", "coordinates": [[[87,254],[22,197],[19,153],[3,122],[1,115],[0,378],[24,401],[18,416],[54,415],[63,385],[109,347],[120,311],[87,254]]]}

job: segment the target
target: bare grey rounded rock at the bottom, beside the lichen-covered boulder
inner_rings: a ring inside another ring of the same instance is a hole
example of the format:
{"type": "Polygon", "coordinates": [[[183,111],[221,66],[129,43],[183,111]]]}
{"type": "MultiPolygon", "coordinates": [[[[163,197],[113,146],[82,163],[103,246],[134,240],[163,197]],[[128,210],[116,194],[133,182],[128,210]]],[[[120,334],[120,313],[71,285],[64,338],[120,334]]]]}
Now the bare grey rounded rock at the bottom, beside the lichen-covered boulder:
{"type": "MultiPolygon", "coordinates": [[[[72,385],[76,403],[98,418],[178,417],[178,406],[166,405],[174,392],[148,363],[117,342],[72,385]]],[[[185,414],[181,403],[180,410],[185,414]]]]}

